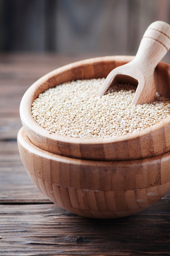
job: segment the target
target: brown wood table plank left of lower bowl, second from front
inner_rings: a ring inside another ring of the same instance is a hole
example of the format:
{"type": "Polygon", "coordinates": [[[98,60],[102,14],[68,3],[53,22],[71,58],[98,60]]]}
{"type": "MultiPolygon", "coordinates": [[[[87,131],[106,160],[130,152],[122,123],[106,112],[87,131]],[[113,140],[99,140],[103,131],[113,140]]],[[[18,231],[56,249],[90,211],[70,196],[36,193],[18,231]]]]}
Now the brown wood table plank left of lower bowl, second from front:
{"type": "Polygon", "coordinates": [[[0,141],[0,203],[49,202],[21,162],[17,141],[0,141]]]}

